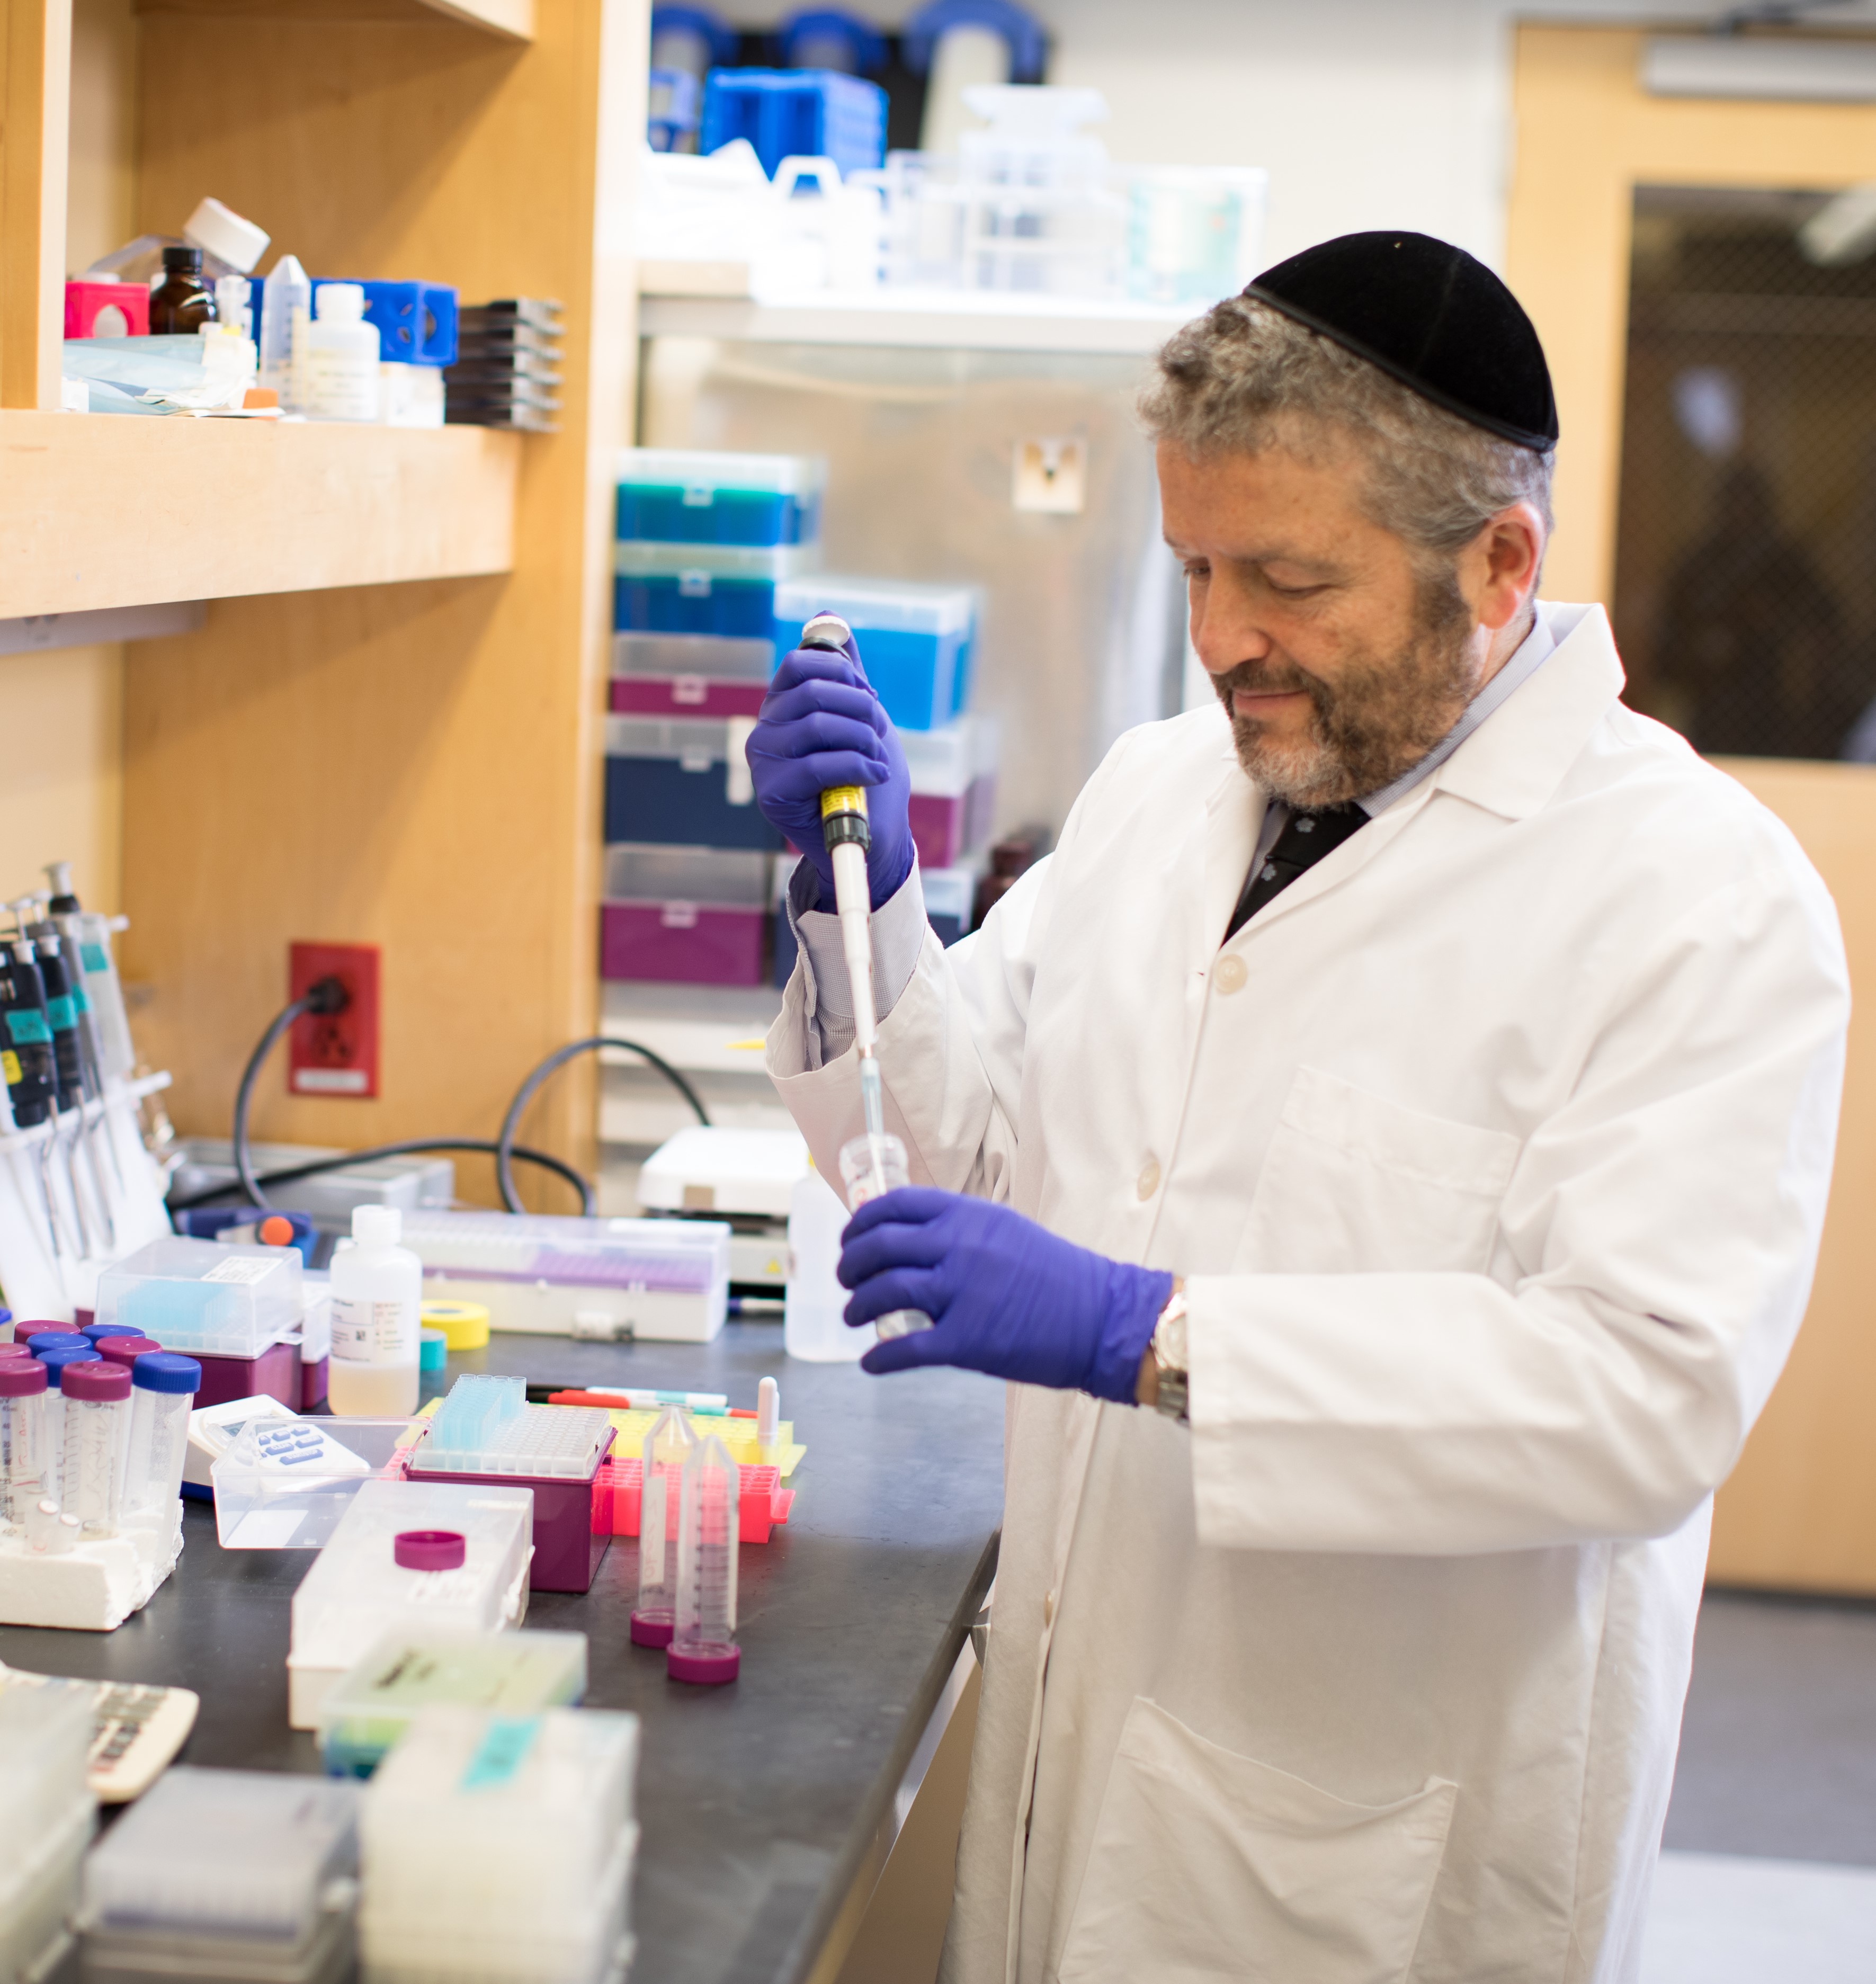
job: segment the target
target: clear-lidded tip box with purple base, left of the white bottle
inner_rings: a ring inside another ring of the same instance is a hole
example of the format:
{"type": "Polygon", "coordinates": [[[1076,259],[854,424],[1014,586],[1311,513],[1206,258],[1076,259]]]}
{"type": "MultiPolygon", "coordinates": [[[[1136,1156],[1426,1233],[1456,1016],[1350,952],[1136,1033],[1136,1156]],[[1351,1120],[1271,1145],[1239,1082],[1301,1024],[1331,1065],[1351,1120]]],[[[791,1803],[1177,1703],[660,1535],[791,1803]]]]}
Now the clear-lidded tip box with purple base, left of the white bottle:
{"type": "Polygon", "coordinates": [[[97,1319],[155,1337],[202,1365],[200,1405],[272,1393],[299,1399],[305,1313],[295,1248],[228,1248],[171,1234],[97,1280],[97,1319]]]}

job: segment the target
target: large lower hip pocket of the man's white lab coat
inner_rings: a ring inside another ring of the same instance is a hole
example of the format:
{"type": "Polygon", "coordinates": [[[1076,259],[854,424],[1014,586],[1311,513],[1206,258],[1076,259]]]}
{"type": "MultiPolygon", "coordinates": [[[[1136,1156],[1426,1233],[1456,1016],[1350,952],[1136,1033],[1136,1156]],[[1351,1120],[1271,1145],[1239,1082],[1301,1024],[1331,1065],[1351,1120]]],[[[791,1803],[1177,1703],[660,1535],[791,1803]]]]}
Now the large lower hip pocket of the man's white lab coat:
{"type": "Polygon", "coordinates": [[[1456,1798],[1430,1778],[1392,1805],[1352,1805],[1138,1696],[1061,1984],[1398,1984],[1456,1798]]]}

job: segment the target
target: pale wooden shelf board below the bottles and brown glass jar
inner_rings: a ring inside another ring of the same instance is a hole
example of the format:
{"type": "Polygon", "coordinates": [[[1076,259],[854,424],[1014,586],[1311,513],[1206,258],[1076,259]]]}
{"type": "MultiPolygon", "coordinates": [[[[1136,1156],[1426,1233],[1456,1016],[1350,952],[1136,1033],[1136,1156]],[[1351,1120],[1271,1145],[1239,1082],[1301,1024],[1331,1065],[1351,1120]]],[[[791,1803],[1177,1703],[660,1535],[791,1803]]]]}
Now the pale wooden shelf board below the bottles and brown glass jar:
{"type": "Polygon", "coordinates": [[[0,619],[514,565],[522,436],[0,413],[0,619]]]}

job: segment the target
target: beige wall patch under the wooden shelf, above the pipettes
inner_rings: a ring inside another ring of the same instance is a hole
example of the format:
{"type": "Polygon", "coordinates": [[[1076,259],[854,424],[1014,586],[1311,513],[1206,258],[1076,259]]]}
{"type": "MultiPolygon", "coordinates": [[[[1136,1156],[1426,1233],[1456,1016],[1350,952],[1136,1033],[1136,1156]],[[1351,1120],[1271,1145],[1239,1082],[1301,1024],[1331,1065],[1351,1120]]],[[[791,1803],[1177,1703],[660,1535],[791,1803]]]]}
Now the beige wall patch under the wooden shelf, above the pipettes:
{"type": "Polygon", "coordinates": [[[123,649],[0,655],[12,742],[0,774],[0,897],[69,861],[87,909],[115,911],[123,879],[123,649]]]}

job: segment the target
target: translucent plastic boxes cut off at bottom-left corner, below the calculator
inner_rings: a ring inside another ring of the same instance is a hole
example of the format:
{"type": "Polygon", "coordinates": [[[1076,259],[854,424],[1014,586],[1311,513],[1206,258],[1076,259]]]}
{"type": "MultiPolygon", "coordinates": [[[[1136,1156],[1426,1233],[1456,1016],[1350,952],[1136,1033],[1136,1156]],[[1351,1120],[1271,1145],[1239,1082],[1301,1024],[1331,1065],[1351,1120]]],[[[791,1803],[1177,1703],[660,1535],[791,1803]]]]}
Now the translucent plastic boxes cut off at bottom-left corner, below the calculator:
{"type": "Polygon", "coordinates": [[[0,1978],[50,1978],[71,1946],[97,1823],[89,1748],[85,1682],[0,1686],[0,1978]]]}

